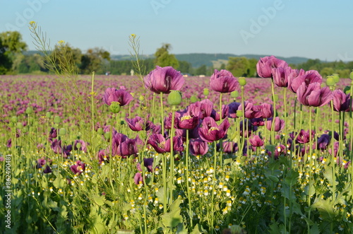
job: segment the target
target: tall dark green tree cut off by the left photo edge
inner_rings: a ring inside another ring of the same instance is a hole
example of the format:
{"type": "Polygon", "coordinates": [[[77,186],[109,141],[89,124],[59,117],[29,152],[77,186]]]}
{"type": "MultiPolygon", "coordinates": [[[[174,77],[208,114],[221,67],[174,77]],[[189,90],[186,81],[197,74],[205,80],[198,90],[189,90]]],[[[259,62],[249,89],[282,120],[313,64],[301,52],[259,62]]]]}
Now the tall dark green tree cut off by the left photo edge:
{"type": "Polygon", "coordinates": [[[17,31],[0,33],[0,74],[15,71],[26,49],[27,45],[17,31]]]}

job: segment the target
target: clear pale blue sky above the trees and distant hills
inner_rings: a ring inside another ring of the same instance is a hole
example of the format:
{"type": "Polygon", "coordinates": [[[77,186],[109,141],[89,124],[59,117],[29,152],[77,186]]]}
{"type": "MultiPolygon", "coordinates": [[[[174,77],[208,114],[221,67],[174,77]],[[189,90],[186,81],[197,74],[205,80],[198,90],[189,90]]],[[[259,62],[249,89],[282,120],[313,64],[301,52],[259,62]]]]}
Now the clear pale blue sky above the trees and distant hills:
{"type": "Polygon", "coordinates": [[[162,43],[173,54],[232,53],[353,61],[352,0],[0,0],[0,32],[18,30],[34,49],[28,22],[54,45],[128,54],[162,43]]]}

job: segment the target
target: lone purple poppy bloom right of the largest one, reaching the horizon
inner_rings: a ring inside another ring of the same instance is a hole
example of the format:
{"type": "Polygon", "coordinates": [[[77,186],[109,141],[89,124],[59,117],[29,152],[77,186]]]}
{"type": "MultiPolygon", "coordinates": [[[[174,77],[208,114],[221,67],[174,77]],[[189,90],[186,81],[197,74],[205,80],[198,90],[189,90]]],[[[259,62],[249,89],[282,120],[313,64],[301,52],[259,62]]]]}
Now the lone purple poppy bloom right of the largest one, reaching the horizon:
{"type": "Polygon", "coordinates": [[[215,69],[210,78],[210,88],[220,93],[231,93],[237,90],[239,82],[230,71],[215,69]]]}

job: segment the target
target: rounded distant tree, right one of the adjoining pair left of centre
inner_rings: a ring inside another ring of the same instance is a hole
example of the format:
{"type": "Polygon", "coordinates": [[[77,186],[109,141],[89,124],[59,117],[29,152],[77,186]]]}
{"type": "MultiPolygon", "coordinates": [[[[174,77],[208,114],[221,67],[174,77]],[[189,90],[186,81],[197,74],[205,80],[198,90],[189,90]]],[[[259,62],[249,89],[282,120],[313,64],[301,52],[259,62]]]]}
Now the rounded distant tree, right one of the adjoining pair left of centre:
{"type": "Polygon", "coordinates": [[[103,71],[104,62],[110,61],[109,52],[100,48],[88,49],[87,53],[83,54],[80,63],[81,74],[91,74],[95,71],[97,74],[105,73],[103,71]]]}

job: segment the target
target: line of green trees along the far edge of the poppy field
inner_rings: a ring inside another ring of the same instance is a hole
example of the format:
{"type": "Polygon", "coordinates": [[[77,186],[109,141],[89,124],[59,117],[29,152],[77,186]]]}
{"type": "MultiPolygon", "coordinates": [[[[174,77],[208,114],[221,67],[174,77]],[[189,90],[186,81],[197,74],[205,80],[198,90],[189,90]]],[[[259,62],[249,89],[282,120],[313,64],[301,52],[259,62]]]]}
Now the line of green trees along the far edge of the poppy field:
{"type": "MultiPolygon", "coordinates": [[[[22,35],[16,31],[0,33],[0,75],[1,74],[45,74],[49,73],[49,64],[40,52],[29,53],[27,45],[22,40],[22,35]]],[[[213,64],[212,66],[201,65],[193,67],[190,62],[179,61],[169,51],[172,46],[163,44],[155,52],[154,58],[143,59],[145,71],[155,69],[155,66],[173,66],[174,69],[190,76],[210,76],[214,69],[227,69],[234,76],[258,77],[256,73],[257,59],[246,57],[229,57],[227,62],[213,64]]],[[[48,58],[47,58],[48,59],[48,58]]],[[[54,61],[56,69],[61,69],[61,64],[69,62],[78,74],[116,74],[130,75],[133,71],[131,60],[113,60],[109,52],[95,47],[83,53],[78,48],[73,48],[68,43],[55,45],[50,52],[49,59],[54,61]],[[69,60],[69,61],[67,61],[69,60]]],[[[319,59],[309,59],[301,64],[290,64],[292,68],[304,70],[317,70],[323,77],[331,74],[339,74],[345,78],[353,69],[353,62],[322,62],[319,59]]]]}

